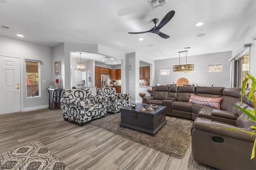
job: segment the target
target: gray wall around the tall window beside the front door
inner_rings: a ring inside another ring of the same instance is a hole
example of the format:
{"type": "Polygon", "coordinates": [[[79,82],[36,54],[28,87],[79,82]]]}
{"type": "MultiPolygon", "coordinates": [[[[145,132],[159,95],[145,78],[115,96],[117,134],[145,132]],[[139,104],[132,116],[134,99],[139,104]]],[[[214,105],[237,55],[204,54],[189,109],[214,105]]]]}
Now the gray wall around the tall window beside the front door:
{"type": "Polygon", "coordinates": [[[22,111],[40,109],[48,106],[47,88],[50,81],[54,80],[52,76],[52,48],[44,45],[21,41],[9,37],[0,36],[0,53],[21,57],[22,75],[21,88],[23,90],[23,106],[22,111]],[[40,64],[40,92],[41,97],[27,98],[26,97],[26,63],[25,59],[41,60],[40,64]],[[46,80],[46,83],[42,83],[46,80]],[[46,106],[47,105],[47,106],[46,106]]]}

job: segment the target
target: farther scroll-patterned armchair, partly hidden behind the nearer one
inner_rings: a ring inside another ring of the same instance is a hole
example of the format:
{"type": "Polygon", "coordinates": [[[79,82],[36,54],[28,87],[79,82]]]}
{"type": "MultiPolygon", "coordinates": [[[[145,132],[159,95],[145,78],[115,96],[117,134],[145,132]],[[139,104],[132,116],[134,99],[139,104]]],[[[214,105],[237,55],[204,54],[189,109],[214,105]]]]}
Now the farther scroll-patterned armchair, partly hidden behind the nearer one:
{"type": "Polygon", "coordinates": [[[108,97],[107,100],[107,111],[117,113],[120,108],[130,105],[130,94],[116,93],[116,88],[104,87],[98,88],[97,94],[99,96],[108,97]]]}

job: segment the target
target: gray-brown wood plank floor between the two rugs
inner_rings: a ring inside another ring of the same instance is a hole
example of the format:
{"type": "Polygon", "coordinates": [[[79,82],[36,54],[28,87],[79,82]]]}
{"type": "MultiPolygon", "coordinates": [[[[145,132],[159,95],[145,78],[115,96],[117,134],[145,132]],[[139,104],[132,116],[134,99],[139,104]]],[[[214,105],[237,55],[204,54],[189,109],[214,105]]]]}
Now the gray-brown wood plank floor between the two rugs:
{"type": "Polygon", "coordinates": [[[61,110],[0,115],[0,152],[37,140],[72,170],[214,169],[195,162],[191,146],[176,159],[90,123],[64,121],[61,110]]]}

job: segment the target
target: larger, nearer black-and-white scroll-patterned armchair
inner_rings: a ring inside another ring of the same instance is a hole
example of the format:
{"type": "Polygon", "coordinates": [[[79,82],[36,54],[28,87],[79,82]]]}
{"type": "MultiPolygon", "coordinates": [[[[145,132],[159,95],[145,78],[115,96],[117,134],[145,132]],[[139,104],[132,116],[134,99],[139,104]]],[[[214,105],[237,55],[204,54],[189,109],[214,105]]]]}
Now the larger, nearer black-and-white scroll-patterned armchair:
{"type": "Polygon", "coordinates": [[[107,113],[107,98],[92,96],[90,88],[63,90],[60,102],[64,120],[75,121],[80,126],[107,113]]]}

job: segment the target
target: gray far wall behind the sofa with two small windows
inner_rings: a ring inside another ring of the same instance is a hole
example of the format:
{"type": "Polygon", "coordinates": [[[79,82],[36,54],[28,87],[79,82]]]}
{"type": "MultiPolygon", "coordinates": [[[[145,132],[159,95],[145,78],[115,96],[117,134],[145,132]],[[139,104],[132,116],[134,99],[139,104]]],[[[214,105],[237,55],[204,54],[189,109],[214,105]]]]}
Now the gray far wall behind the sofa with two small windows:
{"type": "Polygon", "coordinates": [[[190,74],[172,71],[172,66],[179,64],[178,58],[157,60],[155,61],[155,83],[166,85],[174,82],[176,84],[178,78],[184,77],[189,82],[198,84],[198,86],[210,86],[213,84],[214,86],[230,87],[230,63],[228,62],[230,57],[231,51],[188,56],[188,64],[194,64],[194,72],[190,74]],[[209,73],[208,64],[222,64],[222,72],[209,73]],[[170,74],[160,75],[160,68],[170,68],[170,74]]]}

